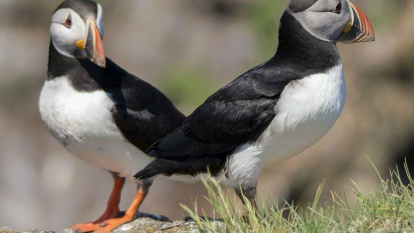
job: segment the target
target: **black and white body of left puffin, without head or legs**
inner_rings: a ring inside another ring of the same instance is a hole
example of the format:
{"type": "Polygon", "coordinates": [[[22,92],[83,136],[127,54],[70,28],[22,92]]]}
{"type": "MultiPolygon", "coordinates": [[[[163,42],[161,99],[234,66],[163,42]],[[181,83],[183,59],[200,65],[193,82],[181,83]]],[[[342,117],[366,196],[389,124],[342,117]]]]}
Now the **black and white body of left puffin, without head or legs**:
{"type": "Polygon", "coordinates": [[[184,119],[161,92],[110,59],[102,68],[62,55],[52,43],[39,109],[72,153],[127,177],[151,161],[143,151],[184,119]]]}

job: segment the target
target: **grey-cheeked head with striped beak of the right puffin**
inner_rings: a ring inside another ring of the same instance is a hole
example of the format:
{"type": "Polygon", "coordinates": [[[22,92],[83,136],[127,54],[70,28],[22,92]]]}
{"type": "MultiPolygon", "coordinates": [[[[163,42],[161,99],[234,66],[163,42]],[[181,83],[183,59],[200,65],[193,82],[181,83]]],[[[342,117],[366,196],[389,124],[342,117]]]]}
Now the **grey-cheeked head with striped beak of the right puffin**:
{"type": "Polygon", "coordinates": [[[286,10],[321,40],[334,43],[375,40],[365,13],[349,0],[290,0],[286,10]]]}

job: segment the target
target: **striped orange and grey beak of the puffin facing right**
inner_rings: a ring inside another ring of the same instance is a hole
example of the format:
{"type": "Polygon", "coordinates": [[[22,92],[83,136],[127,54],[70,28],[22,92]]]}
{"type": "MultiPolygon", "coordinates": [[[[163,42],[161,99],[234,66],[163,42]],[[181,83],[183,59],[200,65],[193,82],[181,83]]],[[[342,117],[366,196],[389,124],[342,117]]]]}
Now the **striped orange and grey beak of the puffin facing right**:
{"type": "Polygon", "coordinates": [[[349,0],[347,1],[351,13],[351,21],[345,29],[343,29],[338,41],[342,43],[374,41],[375,35],[368,17],[366,17],[365,13],[359,9],[358,6],[354,5],[349,0]]]}

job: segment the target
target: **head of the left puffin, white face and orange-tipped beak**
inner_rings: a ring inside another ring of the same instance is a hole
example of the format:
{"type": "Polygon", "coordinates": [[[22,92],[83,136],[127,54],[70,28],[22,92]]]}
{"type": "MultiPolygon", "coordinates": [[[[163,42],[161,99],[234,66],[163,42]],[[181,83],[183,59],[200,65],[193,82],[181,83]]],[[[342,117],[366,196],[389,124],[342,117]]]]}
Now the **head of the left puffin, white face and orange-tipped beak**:
{"type": "Polygon", "coordinates": [[[102,7],[91,0],[65,0],[51,18],[51,41],[58,52],[89,58],[101,67],[105,67],[103,32],[102,7]]]}

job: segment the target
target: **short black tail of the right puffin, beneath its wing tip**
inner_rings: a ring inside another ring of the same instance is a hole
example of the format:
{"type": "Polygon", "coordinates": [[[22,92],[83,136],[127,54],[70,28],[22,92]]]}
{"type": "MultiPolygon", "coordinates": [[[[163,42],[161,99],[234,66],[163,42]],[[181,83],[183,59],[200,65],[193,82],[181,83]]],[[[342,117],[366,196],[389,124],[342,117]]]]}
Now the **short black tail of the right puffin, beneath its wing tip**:
{"type": "Polygon", "coordinates": [[[222,154],[198,157],[158,157],[145,168],[138,171],[133,177],[141,180],[157,174],[163,174],[165,176],[171,176],[173,174],[195,176],[198,173],[206,173],[207,170],[214,176],[218,175],[224,168],[225,159],[226,156],[222,154]]]}

